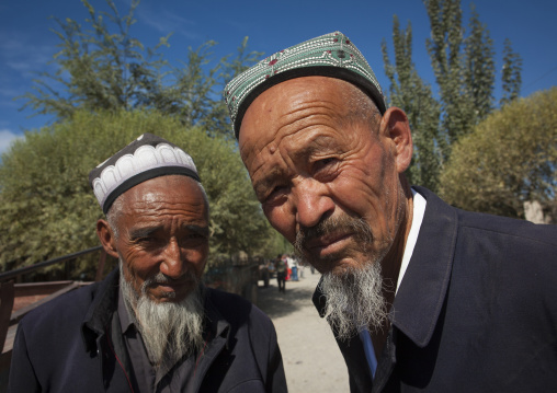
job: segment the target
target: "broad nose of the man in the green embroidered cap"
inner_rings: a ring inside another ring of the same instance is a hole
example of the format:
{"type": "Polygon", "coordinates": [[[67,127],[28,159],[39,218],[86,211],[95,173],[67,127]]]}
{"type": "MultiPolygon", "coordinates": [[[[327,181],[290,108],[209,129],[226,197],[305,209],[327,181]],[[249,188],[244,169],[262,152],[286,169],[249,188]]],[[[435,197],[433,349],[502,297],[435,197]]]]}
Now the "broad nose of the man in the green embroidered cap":
{"type": "Polygon", "coordinates": [[[314,227],[322,217],[332,213],[334,203],[326,184],[314,178],[305,178],[296,184],[294,188],[296,223],[298,226],[314,227]]]}

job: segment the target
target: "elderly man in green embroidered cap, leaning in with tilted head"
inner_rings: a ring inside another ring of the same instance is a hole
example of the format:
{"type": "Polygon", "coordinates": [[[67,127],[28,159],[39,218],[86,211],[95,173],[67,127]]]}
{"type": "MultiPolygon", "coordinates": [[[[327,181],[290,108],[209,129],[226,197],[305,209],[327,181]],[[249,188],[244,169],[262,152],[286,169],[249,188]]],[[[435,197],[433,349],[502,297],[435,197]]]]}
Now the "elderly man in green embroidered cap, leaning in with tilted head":
{"type": "Polygon", "coordinates": [[[410,187],[407,116],[345,35],[263,59],[224,96],[266,218],[322,274],[352,392],[557,386],[556,227],[410,187]]]}

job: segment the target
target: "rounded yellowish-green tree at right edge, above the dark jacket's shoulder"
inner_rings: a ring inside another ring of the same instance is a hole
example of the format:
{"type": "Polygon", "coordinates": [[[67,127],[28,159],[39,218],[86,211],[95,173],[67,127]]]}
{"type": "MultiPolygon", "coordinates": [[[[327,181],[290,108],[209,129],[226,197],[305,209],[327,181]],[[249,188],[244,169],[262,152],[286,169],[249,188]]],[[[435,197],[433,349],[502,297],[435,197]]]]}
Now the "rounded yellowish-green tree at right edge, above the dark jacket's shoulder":
{"type": "Polygon", "coordinates": [[[533,200],[554,210],[556,163],[554,88],[507,104],[462,138],[441,176],[441,194],[463,209],[501,216],[524,218],[524,203],[533,200]]]}

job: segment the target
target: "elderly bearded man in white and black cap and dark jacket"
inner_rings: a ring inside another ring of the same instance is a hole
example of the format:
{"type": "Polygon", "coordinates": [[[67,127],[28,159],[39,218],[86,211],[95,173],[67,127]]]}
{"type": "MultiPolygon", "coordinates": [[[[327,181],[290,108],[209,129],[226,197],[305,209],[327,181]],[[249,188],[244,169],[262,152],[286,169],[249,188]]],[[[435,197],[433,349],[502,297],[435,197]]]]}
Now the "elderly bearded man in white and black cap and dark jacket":
{"type": "Polygon", "coordinates": [[[269,317],[200,282],[209,206],[191,157],[145,134],[89,181],[120,268],[22,320],[9,392],[286,392],[269,317]]]}

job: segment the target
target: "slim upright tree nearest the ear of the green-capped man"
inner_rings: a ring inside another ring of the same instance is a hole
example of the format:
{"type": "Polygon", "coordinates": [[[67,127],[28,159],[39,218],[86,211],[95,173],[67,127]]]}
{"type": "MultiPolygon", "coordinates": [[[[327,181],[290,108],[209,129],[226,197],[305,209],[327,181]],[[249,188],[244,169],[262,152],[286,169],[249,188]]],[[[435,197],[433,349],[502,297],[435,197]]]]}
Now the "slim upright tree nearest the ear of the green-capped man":
{"type": "Polygon", "coordinates": [[[411,184],[437,189],[441,167],[440,151],[445,146],[439,135],[440,105],[431,88],[418,76],[412,62],[412,27],[401,30],[398,18],[393,19],[395,63],[388,57],[387,43],[382,43],[385,72],[389,79],[390,105],[402,108],[412,129],[414,151],[408,171],[411,184]]]}

